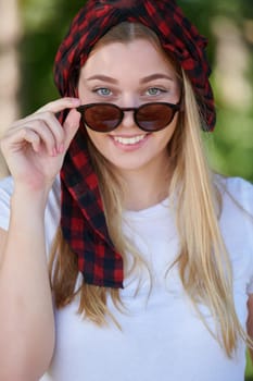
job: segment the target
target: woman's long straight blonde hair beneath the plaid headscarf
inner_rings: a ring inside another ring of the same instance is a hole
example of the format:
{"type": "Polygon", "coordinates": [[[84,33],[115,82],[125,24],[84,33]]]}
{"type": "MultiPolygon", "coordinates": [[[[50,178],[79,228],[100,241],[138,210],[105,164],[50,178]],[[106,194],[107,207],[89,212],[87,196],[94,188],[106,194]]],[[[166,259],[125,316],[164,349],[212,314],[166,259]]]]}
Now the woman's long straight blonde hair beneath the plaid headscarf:
{"type": "MultiPolygon", "coordinates": [[[[163,52],[156,35],[143,25],[134,23],[115,26],[101,38],[97,47],[112,41],[129,42],[136,38],[150,40],[163,52]]],[[[167,59],[181,76],[185,108],[168,146],[174,163],[169,194],[177,194],[176,222],[180,241],[180,250],[174,265],[178,266],[185,291],[197,311],[200,303],[210,308],[216,322],[216,332],[212,334],[227,355],[231,356],[239,337],[250,345],[252,342],[243,331],[235,309],[231,266],[218,226],[222,205],[203,150],[199,107],[187,75],[170,57],[167,59]]],[[[122,234],[123,183],[92,145],[89,150],[99,179],[111,238],[116,249],[122,253],[124,263],[128,260],[126,253],[131,253],[134,268],[142,266],[140,255],[122,234]],[[110,187],[106,184],[110,184],[110,187]],[[113,219],[110,218],[112,214],[113,219]]],[[[64,242],[60,228],[52,247],[50,273],[58,308],[71,303],[78,294],[78,312],[98,324],[103,324],[105,316],[114,319],[106,305],[109,294],[118,308],[123,307],[118,290],[88,285],[85,282],[76,290],[77,258],[64,242]]],[[[200,311],[199,314],[205,323],[200,311]]],[[[206,323],[205,325],[208,329],[206,323]]]]}

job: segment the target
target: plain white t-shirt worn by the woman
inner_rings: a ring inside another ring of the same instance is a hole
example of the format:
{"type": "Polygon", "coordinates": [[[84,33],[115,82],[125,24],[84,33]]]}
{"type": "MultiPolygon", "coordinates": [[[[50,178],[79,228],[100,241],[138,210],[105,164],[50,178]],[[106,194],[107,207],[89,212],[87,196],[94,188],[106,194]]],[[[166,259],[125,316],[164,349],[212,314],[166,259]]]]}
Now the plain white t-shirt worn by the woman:
{"type": "MultiPolygon", "coordinates": [[[[246,300],[253,294],[253,186],[241,179],[223,180],[220,229],[233,269],[233,297],[241,324],[245,328],[246,300]],[[235,200],[242,207],[239,208],[235,200]]],[[[0,226],[8,229],[12,180],[0,185],[0,226]]],[[[59,180],[49,196],[46,211],[47,246],[59,224],[59,180]]],[[[55,310],[56,346],[43,380],[49,381],[243,381],[245,346],[229,359],[213,339],[186,296],[177,268],[165,279],[165,270],[177,254],[178,238],[169,213],[169,202],[141,211],[127,211],[124,231],[149,262],[149,276],[142,276],[136,295],[138,275],[124,282],[122,298],[127,307],[110,308],[119,322],[99,328],[77,315],[78,299],[55,310]]],[[[208,309],[200,306],[206,323],[214,321],[208,309]]]]}

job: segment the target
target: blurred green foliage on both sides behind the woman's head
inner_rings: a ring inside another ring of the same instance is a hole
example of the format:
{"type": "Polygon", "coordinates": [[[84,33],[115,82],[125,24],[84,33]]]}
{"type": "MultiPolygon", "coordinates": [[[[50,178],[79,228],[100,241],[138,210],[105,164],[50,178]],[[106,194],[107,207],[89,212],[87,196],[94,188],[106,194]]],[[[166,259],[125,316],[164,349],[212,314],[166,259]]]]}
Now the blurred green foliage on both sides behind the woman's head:
{"type": "MultiPolygon", "coordinates": [[[[53,84],[52,66],[59,44],[69,22],[85,1],[18,0],[24,33],[20,44],[22,114],[59,97],[53,84]]],[[[240,29],[250,62],[244,73],[253,95],[253,7],[252,0],[178,0],[185,13],[208,37],[207,56],[216,64],[214,21],[226,16],[240,29]]],[[[229,36],[228,36],[229,37],[229,36]]],[[[231,57],[231,60],[233,58],[231,57]]],[[[215,70],[214,70],[215,74],[215,70]]],[[[241,175],[253,181],[253,105],[231,107],[220,96],[219,81],[212,76],[218,119],[213,134],[205,134],[210,160],[226,175],[241,175]]]]}

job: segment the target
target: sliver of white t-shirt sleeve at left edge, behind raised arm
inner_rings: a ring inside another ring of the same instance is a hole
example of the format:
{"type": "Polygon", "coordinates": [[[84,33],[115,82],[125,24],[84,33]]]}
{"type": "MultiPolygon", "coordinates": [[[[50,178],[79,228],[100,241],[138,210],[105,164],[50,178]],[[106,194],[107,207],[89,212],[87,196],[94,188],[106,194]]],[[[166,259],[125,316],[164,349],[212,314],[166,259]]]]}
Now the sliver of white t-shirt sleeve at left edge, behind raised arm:
{"type": "Polygon", "coordinates": [[[12,177],[4,177],[0,181],[0,228],[9,229],[10,223],[10,200],[13,192],[12,177]]]}

